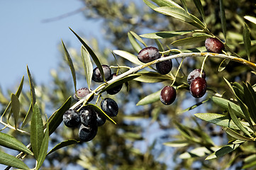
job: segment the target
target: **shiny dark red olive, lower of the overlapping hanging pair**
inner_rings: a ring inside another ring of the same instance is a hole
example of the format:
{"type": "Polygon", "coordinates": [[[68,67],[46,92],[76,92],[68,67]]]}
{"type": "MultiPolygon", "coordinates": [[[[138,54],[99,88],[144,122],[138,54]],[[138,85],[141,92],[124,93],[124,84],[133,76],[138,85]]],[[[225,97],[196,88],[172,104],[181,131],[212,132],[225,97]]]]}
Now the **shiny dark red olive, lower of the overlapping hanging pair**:
{"type": "Polygon", "coordinates": [[[194,96],[195,98],[201,98],[202,96],[204,96],[204,94],[206,94],[206,79],[202,77],[196,77],[196,79],[191,81],[189,89],[192,96],[194,96]]]}

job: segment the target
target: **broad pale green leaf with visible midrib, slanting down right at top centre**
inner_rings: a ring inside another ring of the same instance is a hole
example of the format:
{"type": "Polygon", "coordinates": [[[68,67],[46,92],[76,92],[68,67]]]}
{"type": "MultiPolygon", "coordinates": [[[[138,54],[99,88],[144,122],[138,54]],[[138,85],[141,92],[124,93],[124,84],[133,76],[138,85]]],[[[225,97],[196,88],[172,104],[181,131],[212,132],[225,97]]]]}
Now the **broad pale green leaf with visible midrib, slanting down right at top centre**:
{"type": "Polygon", "coordinates": [[[186,23],[190,23],[191,25],[197,27],[197,28],[204,28],[204,26],[201,25],[201,23],[198,23],[198,18],[196,19],[195,16],[192,16],[191,14],[187,13],[183,8],[178,8],[174,6],[163,6],[154,8],[155,11],[165,14],[167,16],[172,16],[174,18],[177,18],[181,21],[184,21],[186,23]],[[196,21],[195,21],[196,19],[196,21]]]}

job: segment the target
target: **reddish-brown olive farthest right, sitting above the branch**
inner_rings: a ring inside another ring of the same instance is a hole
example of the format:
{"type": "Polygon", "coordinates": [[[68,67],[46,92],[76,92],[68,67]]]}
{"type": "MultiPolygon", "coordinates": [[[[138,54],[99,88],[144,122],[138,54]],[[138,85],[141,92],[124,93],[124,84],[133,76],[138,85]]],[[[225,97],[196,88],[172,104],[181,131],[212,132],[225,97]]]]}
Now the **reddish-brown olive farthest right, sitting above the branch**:
{"type": "Polygon", "coordinates": [[[208,52],[214,53],[222,53],[222,50],[224,49],[223,42],[217,38],[207,38],[205,41],[205,46],[208,52]]]}

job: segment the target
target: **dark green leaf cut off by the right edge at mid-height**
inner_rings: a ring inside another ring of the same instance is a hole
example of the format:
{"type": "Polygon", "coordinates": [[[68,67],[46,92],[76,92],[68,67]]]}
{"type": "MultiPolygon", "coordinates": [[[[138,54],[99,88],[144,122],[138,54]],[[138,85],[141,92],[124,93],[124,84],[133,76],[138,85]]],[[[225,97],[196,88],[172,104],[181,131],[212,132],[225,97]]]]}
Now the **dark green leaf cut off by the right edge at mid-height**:
{"type": "Polygon", "coordinates": [[[256,123],[256,94],[250,84],[243,84],[245,104],[248,107],[250,117],[256,123]]]}

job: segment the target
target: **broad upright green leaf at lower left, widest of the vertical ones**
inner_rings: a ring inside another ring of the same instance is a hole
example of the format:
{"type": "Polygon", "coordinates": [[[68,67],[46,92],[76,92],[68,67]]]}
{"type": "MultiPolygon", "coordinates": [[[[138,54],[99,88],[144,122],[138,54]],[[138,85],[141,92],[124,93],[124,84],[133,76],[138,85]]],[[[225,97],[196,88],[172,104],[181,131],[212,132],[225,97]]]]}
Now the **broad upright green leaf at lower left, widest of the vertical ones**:
{"type": "Polygon", "coordinates": [[[38,160],[43,135],[43,120],[38,105],[35,103],[30,125],[30,143],[36,160],[38,160]]]}

